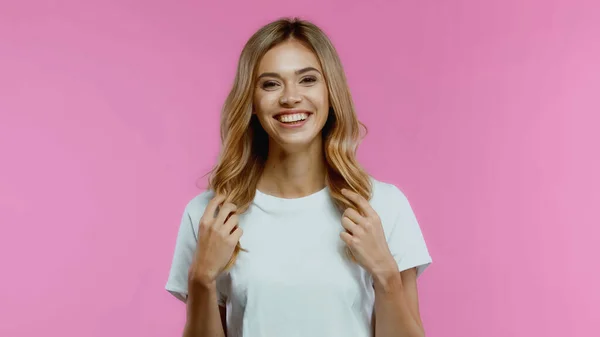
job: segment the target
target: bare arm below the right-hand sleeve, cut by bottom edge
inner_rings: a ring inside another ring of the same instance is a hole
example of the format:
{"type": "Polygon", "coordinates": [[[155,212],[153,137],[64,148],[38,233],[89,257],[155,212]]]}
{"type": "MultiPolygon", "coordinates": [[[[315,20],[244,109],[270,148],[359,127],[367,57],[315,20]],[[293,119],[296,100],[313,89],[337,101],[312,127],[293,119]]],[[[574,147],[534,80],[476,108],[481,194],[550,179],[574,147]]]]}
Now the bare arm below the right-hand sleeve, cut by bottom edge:
{"type": "Polygon", "coordinates": [[[373,280],[375,337],[424,337],[416,268],[384,271],[373,275],[373,280]]]}

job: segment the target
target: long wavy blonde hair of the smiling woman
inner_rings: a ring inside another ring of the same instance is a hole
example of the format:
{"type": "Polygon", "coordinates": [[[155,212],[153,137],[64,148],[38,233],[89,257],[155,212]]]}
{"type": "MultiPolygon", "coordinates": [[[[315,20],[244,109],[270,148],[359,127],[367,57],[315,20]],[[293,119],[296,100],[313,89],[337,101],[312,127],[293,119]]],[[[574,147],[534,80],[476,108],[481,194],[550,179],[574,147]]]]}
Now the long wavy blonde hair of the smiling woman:
{"type": "MultiPolygon", "coordinates": [[[[350,89],[340,58],[325,33],[316,25],[298,18],[283,18],[260,28],[244,46],[237,67],[233,88],[221,113],[221,153],[211,170],[209,188],[227,196],[227,201],[245,212],[254,199],[256,186],[263,172],[269,139],[252,114],[253,90],[258,64],[274,46],[294,39],[311,49],[324,72],[331,105],[322,131],[326,160],[326,184],[340,211],[356,206],[341,194],[342,188],[371,198],[371,181],[356,160],[360,142],[360,127],[350,89]]],[[[236,246],[227,268],[235,262],[240,244],[236,246]]]]}

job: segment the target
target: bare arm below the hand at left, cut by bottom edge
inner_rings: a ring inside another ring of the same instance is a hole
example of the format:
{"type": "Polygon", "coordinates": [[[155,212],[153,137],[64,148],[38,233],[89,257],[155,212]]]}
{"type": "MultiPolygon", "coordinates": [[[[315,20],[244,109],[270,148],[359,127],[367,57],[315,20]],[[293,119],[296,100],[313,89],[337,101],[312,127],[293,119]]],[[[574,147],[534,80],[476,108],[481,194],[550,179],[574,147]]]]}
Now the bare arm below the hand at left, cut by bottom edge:
{"type": "Polygon", "coordinates": [[[217,302],[216,283],[195,285],[186,301],[183,337],[226,337],[224,313],[217,302]]]}

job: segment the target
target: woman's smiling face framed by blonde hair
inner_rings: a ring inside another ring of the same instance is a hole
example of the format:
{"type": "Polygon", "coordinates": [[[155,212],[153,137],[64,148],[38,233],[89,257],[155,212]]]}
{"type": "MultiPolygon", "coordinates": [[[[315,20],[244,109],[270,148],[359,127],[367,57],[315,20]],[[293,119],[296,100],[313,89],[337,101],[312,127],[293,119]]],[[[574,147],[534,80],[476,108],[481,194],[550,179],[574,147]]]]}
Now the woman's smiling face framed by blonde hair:
{"type": "Polygon", "coordinates": [[[298,150],[320,141],[329,113],[329,93],[316,55],[290,40],[260,60],[254,89],[254,113],[283,149],[298,150]]]}

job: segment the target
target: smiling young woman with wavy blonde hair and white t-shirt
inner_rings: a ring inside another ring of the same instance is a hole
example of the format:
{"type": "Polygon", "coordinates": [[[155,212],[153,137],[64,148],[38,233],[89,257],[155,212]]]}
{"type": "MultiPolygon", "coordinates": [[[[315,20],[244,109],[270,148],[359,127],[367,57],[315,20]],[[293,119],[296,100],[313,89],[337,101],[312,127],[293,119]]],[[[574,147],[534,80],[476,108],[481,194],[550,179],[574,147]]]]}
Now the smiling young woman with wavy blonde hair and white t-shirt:
{"type": "Polygon", "coordinates": [[[282,19],[250,38],[166,284],[187,303],[184,336],[424,335],[431,257],[405,195],[357,163],[360,125],[318,27],[282,19]]]}

